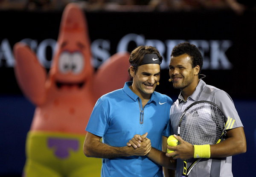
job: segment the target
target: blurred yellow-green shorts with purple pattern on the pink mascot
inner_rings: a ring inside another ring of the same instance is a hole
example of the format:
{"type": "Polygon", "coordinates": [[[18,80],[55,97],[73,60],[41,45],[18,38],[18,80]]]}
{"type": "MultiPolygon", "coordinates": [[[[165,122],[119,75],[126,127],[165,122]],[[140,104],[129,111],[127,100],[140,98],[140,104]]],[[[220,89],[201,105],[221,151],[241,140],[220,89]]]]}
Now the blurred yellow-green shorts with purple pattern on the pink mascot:
{"type": "Polygon", "coordinates": [[[24,177],[100,177],[102,159],[83,153],[84,136],[29,132],[24,177]]]}

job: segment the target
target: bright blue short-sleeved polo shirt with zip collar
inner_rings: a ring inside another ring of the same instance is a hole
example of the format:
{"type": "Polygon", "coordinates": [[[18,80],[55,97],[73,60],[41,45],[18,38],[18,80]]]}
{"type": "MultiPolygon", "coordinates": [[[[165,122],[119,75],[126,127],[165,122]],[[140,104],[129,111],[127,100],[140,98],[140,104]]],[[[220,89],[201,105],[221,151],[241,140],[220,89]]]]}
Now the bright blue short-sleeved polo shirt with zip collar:
{"type": "MultiPolygon", "coordinates": [[[[139,96],[126,82],[122,89],[107,93],[96,102],[86,131],[115,147],[126,146],[135,134],[148,132],[151,146],[162,151],[162,136],[171,134],[169,96],[154,92],[142,107],[139,96]],[[143,110],[143,116],[141,114],[143,110]],[[143,119],[142,119],[143,118],[143,119]]],[[[163,177],[162,167],[146,156],[102,159],[102,177],[163,177]]]]}

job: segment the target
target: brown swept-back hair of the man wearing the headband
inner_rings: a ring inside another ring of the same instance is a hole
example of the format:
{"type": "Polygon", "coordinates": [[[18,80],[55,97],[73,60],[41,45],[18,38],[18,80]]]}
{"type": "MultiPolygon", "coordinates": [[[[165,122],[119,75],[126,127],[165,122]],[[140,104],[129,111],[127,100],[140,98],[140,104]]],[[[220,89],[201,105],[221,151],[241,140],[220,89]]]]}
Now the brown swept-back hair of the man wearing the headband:
{"type": "MultiPolygon", "coordinates": [[[[163,61],[163,57],[160,55],[160,52],[153,46],[137,46],[130,55],[129,62],[131,66],[134,67],[135,74],[138,67],[142,64],[145,54],[156,54],[160,60],[160,63],[163,61]]],[[[128,69],[130,75],[130,68],[128,69]]],[[[131,75],[130,75],[131,76],[131,75]]]]}

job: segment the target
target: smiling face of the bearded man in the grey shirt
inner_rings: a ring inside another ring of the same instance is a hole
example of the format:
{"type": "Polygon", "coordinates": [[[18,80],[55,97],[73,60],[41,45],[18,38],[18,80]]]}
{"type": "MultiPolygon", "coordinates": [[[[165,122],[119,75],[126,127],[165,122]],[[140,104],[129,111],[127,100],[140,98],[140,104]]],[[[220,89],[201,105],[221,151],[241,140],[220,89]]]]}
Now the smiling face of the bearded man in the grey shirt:
{"type": "Polygon", "coordinates": [[[185,88],[193,90],[198,84],[199,69],[199,66],[192,68],[191,59],[187,54],[172,56],[169,64],[169,75],[172,78],[173,87],[180,90],[185,88]]]}

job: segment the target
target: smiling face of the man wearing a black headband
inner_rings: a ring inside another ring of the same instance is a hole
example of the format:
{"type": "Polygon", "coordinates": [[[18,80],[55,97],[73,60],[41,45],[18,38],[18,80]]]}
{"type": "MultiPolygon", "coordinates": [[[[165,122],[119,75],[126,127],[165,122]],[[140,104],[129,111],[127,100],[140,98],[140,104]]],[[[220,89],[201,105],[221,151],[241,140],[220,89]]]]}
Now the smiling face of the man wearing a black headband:
{"type": "Polygon", "coordinates": [[[130,67],[130,74],[133,77],[133,92],[140,98],[150,99],[160,80],[160,65],[144,64],[137,68],[136,73],[134,68],[130,67]]]}

